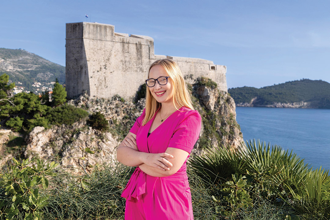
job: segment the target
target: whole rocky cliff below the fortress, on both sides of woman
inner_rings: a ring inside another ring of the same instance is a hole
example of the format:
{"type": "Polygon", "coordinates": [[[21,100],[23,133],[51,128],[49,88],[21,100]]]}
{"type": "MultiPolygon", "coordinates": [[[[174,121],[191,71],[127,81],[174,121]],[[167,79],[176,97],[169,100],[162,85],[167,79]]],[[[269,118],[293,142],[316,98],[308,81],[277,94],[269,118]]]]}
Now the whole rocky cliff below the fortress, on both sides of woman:
{"type": "MultiPolygon", "coordinates": [[[[238,148],[243,141],[236,122],[235,102],[226,92],[220,92],[215,83],[203,79],[189,85],[195,109],[202,116],[202,129],[192,154],[200,154],[210,147],[238,148]]],[[[86,93],[69,105],[84,108],[90,113],[101,112],[110,123],[109,132],[100,132],[86,124],[86,119],[71,126],[53,126],[50,129],[35,127],[25,137],[25,143],[10,156],[25,158],[40,157],[59,161],[62,166],[71,167],[74,172],[88,171],[98,163],[112,164],[116,161],[116,147],[141,115],[145,99],[135,103],[118,96],[112,99],[89,97],[86,93]],[[87,149],[87,150],[86,150],[87,149]],[[94,153],[93,153],[93,152],[94,153]],[[78,170],[75,170],[78,169],[78,170]]],[[[1,131],[0,131],[1,132],[1,131]]],[[[8,144],[8,132],[2,134],[2,149],[8,144]],[[6,142],[7,141],[7,142],[6,142]]],[[[13,135],[12,135],[13,136],[13,135]]],[[[4,150],[2,150],[4,155],[4,150]]],[[[3,160],[8,160],[3,157],[3,160]]]]}

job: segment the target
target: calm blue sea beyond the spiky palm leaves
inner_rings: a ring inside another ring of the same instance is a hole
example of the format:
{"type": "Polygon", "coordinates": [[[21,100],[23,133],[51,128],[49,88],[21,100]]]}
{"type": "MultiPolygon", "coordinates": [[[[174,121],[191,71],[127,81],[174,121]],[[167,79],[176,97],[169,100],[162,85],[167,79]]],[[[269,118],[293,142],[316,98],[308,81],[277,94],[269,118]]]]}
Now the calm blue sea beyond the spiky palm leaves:
{"type": "Polygon", "coordinates": [[[243,139],[293,149],[314,168],[330,169],[330,109],[237,107],[243,139]]]}

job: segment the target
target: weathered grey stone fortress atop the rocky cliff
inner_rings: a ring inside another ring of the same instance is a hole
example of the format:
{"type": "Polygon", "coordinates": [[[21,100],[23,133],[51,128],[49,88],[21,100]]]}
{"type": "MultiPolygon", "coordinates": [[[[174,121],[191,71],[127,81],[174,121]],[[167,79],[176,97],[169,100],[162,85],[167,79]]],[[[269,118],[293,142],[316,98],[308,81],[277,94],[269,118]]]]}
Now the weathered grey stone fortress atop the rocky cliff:
{"type": "Polygon", "coordinates": [[[151,37],[116,33],[114,25],[67,23],[65,47],[68,98],[79,96],[83,90],[98,98],[116,94],[132,98],[148,78],[150,64],[164,58],[179,65],[188,83],[207,77],[227,92],[226,66],[199,58],[155,55],[151,37]]]}

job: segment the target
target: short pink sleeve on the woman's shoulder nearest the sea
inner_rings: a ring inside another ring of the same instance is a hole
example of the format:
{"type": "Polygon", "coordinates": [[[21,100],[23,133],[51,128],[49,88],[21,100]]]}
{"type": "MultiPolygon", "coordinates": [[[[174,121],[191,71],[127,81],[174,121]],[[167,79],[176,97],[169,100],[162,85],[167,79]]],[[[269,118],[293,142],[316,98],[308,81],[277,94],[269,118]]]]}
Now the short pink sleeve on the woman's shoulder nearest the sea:
{"type": "Polygon", "coordinates": [[[174,130],[168,147],[179,148],[189,154],[199,138],[202,118],[198,111],[190,110],[182,114],[182,119],[174,130]]]}

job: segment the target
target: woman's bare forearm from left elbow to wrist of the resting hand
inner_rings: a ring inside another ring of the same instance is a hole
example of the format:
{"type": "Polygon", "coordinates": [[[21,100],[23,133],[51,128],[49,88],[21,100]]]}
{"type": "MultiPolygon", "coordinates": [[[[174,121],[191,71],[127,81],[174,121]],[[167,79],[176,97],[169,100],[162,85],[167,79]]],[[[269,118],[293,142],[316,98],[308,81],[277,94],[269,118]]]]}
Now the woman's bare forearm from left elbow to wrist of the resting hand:
{"type": "Polygon", "coordinates": [[[130,167],[138,166],[144,163],[146,152],[140,152],[131,147],[119,146],[117,149],[117,160],[130,167]]]}

